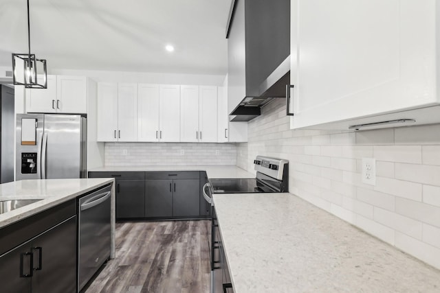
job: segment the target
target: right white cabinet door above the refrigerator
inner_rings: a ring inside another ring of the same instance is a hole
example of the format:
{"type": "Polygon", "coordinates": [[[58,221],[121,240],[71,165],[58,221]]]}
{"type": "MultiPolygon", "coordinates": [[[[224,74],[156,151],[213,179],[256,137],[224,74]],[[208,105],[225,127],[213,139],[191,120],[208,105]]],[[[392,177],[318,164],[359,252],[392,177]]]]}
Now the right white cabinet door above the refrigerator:
{"type": "Polygon", "coordinates": [[[57,75],[56,111],[58,113],[87,113],[87,78],[57,75]]]}

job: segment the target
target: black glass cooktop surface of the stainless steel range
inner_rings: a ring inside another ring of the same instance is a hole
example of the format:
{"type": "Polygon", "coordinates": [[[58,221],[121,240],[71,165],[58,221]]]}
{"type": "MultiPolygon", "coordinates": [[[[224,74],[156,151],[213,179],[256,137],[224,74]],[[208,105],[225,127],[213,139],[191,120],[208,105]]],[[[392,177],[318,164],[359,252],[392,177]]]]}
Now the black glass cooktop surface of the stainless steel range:
{"type": "Polygon", "coordinates": [[[256,192],[276,192],[256,178],[210,179],[214,194],[251,194],[256,192]]]}

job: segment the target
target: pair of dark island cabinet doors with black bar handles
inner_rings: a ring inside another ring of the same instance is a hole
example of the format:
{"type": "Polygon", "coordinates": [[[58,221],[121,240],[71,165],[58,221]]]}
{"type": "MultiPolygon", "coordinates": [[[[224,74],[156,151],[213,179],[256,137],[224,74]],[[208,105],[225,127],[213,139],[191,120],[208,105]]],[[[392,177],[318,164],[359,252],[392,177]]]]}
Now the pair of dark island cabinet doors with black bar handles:
{"type": "Polygon", "coordinates": [[[1,292],[76,292],[76,215],[0,257],[1,292]]]}

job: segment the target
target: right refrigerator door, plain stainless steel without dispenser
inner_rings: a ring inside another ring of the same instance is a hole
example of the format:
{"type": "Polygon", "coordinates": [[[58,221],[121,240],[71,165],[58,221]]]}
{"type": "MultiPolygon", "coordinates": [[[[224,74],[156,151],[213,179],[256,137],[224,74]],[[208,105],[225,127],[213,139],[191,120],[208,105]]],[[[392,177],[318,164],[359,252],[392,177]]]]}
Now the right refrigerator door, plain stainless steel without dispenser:
{"type": "Polygon", "coordinates": [[[41,168],[43,178],[82,178],[83,118],[80,115],[45,115],[41,168]]]}

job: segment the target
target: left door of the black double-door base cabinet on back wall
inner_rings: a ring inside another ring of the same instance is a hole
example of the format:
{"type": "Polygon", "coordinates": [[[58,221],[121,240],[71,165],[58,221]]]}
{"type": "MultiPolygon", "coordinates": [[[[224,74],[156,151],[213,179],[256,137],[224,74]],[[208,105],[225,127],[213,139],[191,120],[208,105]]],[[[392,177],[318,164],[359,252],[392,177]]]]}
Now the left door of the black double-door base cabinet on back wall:
{"type": "Polygon", "coordinates": [[[146,180],[145,189],[145,216],[172,217],[173,180],[146,180]]]}

